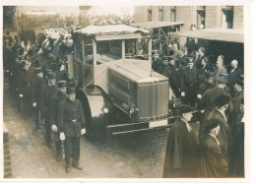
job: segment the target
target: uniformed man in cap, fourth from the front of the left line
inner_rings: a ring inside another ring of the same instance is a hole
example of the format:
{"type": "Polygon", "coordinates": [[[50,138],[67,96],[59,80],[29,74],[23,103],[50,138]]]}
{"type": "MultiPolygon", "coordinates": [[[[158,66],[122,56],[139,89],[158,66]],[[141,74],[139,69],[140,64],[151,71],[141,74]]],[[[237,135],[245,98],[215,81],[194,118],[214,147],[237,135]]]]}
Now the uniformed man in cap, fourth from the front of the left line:
{"type": "Polygon", "coordinates": [[[34,75],[36,77],[32,80],[32,106],[35,109],[35,131],[40,132],[39,125],[44,111],[43,87],[45,81],[42,78],[43,73],[40,67],[34,69],[34,75]]]}

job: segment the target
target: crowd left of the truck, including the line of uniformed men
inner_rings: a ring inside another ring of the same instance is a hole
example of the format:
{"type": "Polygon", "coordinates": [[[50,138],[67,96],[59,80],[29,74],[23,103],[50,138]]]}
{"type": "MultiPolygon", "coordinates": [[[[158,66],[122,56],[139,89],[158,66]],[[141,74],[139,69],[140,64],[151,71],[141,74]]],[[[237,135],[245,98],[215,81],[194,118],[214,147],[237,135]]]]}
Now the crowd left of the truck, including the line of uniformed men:
{"type": "MultiPolygon", "coordinates": [[[[61,160],[64,148],[66,172],[71,166],[79,170],[80,136],[86,133],[85,116],[76,99],[76,82],[68,79],[63,57],[71,53],[72,45],[63,34],[35,41],[24,36],[4,36],[4,73],[17,110],[25,120],[35,123],[34,131],[44,134],[47,147],[55,149],[61,160]]],[[[52,32],[54,33],[54,32],[52,32]]]]}

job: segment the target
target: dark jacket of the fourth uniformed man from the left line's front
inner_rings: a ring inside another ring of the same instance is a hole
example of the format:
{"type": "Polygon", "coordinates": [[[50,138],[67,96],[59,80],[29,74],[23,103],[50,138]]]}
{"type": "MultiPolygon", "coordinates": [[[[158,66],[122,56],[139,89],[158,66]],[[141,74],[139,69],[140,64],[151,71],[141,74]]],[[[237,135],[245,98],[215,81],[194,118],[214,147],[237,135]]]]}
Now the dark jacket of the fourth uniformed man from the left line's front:
{"type": "Polygon", "coordinates": [[[36,102],[36,106],[41,110],[45,107],[43,93],[43,87],[45,85],[45,81],[42,78],[36,77],[32,80],[32,102],[36,102]]]}

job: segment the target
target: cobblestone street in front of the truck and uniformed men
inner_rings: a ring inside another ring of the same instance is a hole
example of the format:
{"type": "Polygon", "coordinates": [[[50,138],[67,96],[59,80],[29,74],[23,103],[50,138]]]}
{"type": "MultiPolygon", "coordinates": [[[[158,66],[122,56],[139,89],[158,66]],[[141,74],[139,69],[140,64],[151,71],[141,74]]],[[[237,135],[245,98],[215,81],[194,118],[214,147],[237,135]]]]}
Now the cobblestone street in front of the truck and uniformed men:
{"type": "Polygon", "coordinates": [[[24,120],[5,87],[4,122],[9,131],[12,178],[160,178],[168,129],[114,136],[103,141],[81,138],[80,164],[85,171],[65,172],[46,147],[44,135],[35,133],[32,119],[24,120]]]}

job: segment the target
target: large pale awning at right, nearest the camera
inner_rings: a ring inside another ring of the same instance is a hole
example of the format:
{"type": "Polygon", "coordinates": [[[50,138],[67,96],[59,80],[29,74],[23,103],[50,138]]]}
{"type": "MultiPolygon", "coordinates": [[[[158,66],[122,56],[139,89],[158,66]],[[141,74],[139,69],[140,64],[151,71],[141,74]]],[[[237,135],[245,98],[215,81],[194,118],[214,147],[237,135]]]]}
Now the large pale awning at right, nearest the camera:
{"type": "Polygon", "coordinates": [[[177,32],[179,36],[195,37],[209,40],[229,41],[229,42],[244,42],[243,30],[231,29],[205,29],[197,31],[177,32]]]}

